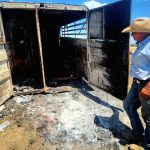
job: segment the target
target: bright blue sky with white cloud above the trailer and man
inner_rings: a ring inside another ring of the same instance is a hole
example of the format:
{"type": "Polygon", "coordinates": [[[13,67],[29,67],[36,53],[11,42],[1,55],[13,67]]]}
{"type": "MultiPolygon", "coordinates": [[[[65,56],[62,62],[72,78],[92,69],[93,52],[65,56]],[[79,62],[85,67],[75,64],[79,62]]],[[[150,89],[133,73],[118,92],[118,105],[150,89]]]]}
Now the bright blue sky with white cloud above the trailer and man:
{"type": "MultiPolygon", "coordinates": [[[[73,5],[86,5],[89,8],[103,6],[119,0],[0,0],[15,2],[40,2],[40,3],[65,3],[73,5]]],[[[132,0],[131,6],[131,22],[137,17],[150,17],[150,0],[132,0]]],[[[131,38],[131,43],[134,40],[131,38]]]]}

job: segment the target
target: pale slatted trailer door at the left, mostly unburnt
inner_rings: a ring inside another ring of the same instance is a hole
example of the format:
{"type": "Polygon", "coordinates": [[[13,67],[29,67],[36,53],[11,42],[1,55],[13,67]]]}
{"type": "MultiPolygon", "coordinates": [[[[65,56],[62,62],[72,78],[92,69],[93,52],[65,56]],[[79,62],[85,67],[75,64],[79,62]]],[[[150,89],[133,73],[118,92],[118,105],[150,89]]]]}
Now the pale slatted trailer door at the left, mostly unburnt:
{"type": "Polygon", "coordinates": [[[6,41],[0,10],[0,105],[13,94],[11,73],[5,50],[5,43],[6,41]]]}

